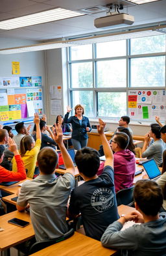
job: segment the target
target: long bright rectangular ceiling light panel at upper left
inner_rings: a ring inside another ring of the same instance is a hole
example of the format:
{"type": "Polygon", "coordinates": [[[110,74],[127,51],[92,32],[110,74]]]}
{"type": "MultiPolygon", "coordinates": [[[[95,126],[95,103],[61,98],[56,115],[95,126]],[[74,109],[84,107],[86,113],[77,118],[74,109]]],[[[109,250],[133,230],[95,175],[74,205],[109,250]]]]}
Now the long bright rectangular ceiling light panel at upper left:
{"type": "Polygon", "coordinates": [[[65,10],[63,8],[56,8],[46,10],[44,12],[38,12],[35,14],[29,14],[18,18],[0,21],[0,29],[10,30],[18,29],[19,27],[27,27],[31,25],[42,24],[46,22],[65,20],[77,16],[86,15],[81,12],[75,12],[73,10],[65,10]]]}

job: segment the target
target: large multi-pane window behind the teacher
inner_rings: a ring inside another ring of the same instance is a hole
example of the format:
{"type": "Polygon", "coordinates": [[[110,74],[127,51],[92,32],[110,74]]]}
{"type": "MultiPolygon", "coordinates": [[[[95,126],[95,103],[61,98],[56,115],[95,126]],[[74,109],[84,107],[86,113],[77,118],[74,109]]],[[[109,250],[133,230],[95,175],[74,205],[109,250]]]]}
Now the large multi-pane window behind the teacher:
{"type": "Polygon", "coordinates": [[[128,115],[130,89],[165,89],[165,48],[162,34],[70,47],[71,106],[83,104],[88,117],[128,115]]]}

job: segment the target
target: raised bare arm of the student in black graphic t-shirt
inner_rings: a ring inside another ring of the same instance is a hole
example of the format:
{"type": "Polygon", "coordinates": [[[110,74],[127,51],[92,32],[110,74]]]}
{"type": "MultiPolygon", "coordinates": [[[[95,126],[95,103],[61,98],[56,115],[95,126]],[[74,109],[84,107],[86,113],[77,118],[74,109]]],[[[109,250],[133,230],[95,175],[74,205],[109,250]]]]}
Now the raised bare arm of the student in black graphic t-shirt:
{"type": "Polygon", "coordinates": [[[104,155],[106,156],[106,162],[104,166],[110,165],[113,167],[113,153],[112,149],[106,139],[106,135],[104,134],[104,127],[106,126],[106,123],[99,119],[99,125],[97,125],[97,130],[99,132],[99,135],[101,137],[101,142],[104,150],[104,155]]]}

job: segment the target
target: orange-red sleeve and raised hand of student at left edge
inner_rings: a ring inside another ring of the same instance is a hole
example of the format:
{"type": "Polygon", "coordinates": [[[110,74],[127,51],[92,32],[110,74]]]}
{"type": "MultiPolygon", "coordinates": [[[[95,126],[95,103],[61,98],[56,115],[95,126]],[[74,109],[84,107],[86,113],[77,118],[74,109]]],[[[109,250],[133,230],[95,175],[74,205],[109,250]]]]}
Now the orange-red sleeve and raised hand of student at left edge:
{"type": "MultiPolygon", "coordinates": [[[[17,171],[16,172],[8,171],[4,167],[0,166],[0,182],[25,180],[26,178],[25,166],[23,164],[21,156],[19,155],[17,145],[13,139],[11,138],[8,139],[8,146],[9,146],[9,150],[14,154],[14,158],[16,160],[16,165],[17,165],[17,171]]],[[[3,162],[3,156],[4,156],[4,147],[3,145],[0,145],[0,164],[1,162],[3,162]]]]}

